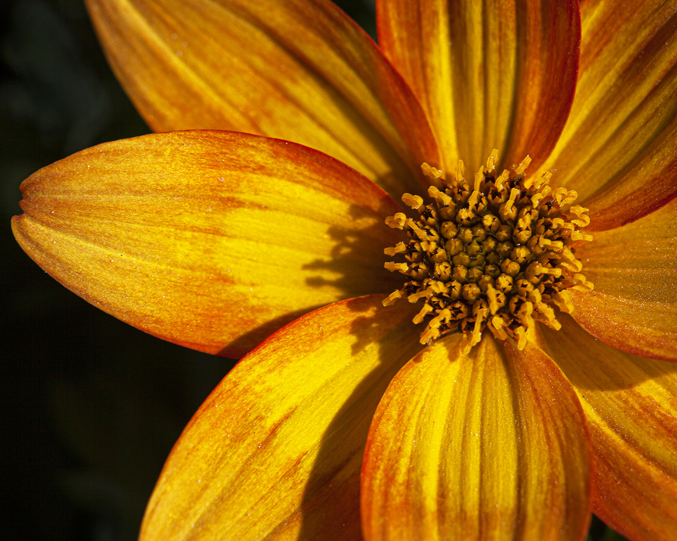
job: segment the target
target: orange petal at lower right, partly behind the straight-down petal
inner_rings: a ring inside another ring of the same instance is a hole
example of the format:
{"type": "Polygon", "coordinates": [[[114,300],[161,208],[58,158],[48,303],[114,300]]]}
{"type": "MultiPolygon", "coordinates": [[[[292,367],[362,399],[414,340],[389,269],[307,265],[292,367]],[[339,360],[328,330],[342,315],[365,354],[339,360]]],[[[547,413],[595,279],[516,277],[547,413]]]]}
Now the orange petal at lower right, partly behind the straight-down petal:
{"type": "Polygon", "coordinates": [[[677,535],[677,367],[594,339],[569,316],[541,326],[575,387],[593,452],[593,511],[628,539],[677,535]]]}

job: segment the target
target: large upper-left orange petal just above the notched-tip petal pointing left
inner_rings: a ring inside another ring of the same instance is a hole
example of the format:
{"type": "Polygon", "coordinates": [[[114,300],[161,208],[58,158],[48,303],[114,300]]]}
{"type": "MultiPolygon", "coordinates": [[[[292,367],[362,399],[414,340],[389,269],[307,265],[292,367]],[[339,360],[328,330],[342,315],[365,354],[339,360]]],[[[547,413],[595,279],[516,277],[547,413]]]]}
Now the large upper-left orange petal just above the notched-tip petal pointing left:
{"type": "Polygon", "coordinates": [[[88,6],[114,72],[154,131],[213,128],[295,141],[396,197],[416,189],[411,171],[421,162],[437,161],[406,83],[329,1],[88,6]]]}

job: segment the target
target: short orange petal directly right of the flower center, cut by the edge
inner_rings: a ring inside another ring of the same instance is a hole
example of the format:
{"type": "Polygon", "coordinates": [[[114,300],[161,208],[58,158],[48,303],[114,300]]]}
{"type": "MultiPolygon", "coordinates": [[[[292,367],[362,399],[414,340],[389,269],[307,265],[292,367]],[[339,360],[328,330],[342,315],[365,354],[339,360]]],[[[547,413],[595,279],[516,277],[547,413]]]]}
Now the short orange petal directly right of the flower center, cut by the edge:
{"type": "Polygon", "coordinates": [[[626,352],[677,360],[676,223],[677,199],[578,248],[594,291],[574,292],[573,316],[588,332],[626,352]]]}

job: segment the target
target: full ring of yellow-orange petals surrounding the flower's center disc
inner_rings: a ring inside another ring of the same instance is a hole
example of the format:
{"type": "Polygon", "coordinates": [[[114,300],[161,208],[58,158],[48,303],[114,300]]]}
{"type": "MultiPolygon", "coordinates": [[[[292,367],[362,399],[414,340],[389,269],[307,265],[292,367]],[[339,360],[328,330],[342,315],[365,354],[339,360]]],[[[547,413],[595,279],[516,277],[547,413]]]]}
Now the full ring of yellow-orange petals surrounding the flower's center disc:
{"type": "Polygon", "coordinates": [[[89,9],[156,131],[259,134],[106,143],[22,187],[15,235],[66,287],[249,352],[173,449],[142,540],[568,540],[590,509],[675,537],[677,3],[383,1],[378,47],[323,0],[89,9]],[[590,209],[594,290],[559,331],[424,346],[420,307],[383,307],[403,283],[383,271],[391,195],[494,148],[590,209]]]}

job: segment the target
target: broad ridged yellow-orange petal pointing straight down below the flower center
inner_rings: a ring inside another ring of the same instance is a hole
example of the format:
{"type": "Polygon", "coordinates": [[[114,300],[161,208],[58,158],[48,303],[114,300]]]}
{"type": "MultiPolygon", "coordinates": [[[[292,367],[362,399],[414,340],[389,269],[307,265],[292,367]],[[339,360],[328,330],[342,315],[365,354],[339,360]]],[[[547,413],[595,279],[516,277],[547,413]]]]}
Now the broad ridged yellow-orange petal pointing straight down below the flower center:
{"type": "Polygon", "coordinates": [[[374,540],[580,540],[590,450],[571,384],[548,356],[458,335],[408,362],[378,404],[362,467],[374,540]]]}

